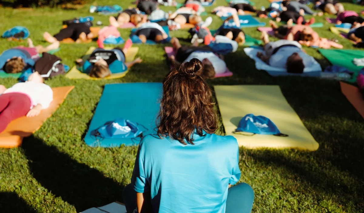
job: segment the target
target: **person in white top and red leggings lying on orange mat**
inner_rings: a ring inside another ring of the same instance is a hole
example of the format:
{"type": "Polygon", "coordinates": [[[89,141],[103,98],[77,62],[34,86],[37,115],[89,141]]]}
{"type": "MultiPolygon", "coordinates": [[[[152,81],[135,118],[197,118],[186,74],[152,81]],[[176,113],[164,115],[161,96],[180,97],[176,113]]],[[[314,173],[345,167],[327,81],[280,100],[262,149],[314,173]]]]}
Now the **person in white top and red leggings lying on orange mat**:
{"type": "Polygon", "coordinates": [[[52,101],[51,87],[44,84],[37,72],[31,74],[27,82],[16,83],[9,89],[0,85],[0,132],[16,118],[39,115],[52,101]]]}

